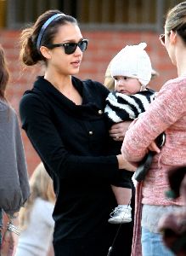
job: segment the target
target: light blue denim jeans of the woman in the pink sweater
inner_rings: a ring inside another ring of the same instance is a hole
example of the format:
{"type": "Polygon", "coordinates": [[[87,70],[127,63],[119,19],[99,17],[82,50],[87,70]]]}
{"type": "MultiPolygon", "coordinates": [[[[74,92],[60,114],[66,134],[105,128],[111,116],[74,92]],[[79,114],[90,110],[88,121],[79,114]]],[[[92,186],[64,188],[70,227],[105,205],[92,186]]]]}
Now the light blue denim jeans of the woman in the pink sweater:
{"type": "Polygon", "coordinates": [[[143,256],[174,256],[163,244],[161,234],[150,232],[142,228],[142,255],[143,256]]]}

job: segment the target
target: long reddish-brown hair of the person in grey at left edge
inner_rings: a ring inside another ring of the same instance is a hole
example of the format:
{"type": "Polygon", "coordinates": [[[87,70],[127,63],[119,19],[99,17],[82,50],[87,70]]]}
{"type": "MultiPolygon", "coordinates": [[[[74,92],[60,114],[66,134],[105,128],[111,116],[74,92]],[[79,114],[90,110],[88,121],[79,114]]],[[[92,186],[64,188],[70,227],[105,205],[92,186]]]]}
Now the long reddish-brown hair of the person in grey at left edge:
{"type": "Polygon", "coordinates": [[[4,50],[0,44],[0,98],[5,99],[5,90],[8,84],[9,72],[6,59],[4,57],[4,50]]]}

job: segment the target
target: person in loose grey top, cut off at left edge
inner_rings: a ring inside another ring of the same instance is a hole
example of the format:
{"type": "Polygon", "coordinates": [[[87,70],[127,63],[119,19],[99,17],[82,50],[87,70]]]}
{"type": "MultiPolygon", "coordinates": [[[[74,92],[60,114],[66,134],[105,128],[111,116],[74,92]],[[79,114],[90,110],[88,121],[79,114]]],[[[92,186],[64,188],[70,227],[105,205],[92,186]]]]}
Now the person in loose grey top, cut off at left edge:
{"type": "Polygon", "coordinates": [[[8,79],[8,64],[0,45],[0,252],[11,254],[17,240],[14,233],[20,233],[16,227],[20,207],[30,189],[18,117],[6,99],[8,79]]]}

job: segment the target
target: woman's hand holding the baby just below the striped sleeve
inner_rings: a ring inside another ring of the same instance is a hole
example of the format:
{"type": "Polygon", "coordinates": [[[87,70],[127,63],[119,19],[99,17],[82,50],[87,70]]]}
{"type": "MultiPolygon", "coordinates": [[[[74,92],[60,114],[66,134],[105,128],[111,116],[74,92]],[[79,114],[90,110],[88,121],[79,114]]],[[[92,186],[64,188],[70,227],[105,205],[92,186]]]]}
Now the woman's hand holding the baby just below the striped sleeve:
{"type": "Polygon", "coordinates": [[[132,121],[125,121],[112,125],[109,131],[110,137],[115,141],[123,141],[126,131],[128,130],[128,126],[131,125],[131,123],[132,121]]]}

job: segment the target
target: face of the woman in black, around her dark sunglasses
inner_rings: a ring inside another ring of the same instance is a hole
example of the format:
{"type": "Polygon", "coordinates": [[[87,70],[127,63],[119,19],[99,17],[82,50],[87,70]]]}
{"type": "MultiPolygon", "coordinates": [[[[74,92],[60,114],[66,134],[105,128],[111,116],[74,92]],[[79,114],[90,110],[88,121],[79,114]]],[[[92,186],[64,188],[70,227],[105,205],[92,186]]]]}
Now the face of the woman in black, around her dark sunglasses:
{"type": "MultiPolygon", "coordinates": [[[[59,31],[54,38],[53,44],[79,43],[82,40],[80,28],[72,23],[59,26],[59,31]]],[[[47,69],[52,69],[54,73],[62,75],[74,75],[79,72],[82,62],[82,50],[77,46],[74,53],[65,54],[63,46],[49,49],[47,69]]]]}

